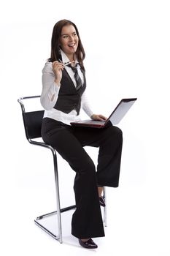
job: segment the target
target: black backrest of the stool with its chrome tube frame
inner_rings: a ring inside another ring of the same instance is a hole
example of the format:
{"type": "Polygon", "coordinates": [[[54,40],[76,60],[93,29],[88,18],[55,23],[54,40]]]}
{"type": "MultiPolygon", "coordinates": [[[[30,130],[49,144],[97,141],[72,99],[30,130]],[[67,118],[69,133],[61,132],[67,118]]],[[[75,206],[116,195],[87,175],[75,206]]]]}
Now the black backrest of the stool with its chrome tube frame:
{"type": "Polygon", "coordinates": [[[35,97],[40,97],[40,96],[22,97],[18,99],[18,102],[20,103],[21,110],[23,113],[23,124],[25,128],[27,140],[42,137],[41,135],[42,118],[44,116],[45,110],[36,110],[36,111],[26,112],[25,106],[23,104],[23,99],[32,99],[35,97]]]}

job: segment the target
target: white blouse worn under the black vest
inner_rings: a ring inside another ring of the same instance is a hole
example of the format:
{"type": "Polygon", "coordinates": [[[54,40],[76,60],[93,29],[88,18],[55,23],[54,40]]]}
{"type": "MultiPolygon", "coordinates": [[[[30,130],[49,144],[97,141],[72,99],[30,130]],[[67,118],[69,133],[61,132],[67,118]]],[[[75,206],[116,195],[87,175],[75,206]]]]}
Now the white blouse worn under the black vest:
{"type": "MultiPolygon", "coordinates": [[[[68,57],[65,53],[63,53],[62,50],[61,56],[63,62],[69,61],[68,57]]],[[[69,73],[70,78],[72,78],[74,86],[76,86],[76,81],[74,79],[74,72],[72,71],[72,68],[66,66],[65,69],[69,73]]],[[[80,67],[78,67],[78,72],[83,82],[83,75],[80,67]]],[[[45,108],[44,118],[53,118],[57,121],[63,122],[64,124],[70,124],[70,122],[72,121],[79,121],[80,115],[77,116],[76,110],[72,110],[70,113],[67,114],[53,108],[55,106],[55,103],[57,102],[59,91],[60,86],[55,83],[55,74],[53,72],[52,62],[47,62],[45,64],[45,67],[42,69],[42,94],[40,98],[42,107],[45,108]]],[[[85,91],[82,94],[81,108],[89,117],[93,115],[85,91]]]]}

